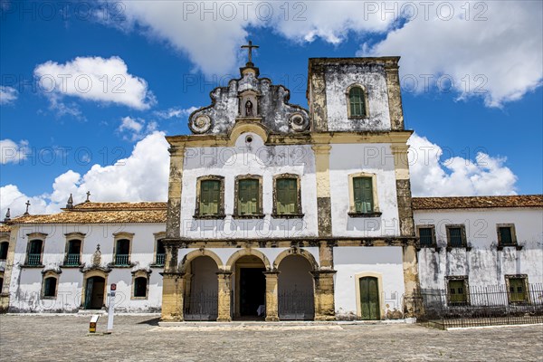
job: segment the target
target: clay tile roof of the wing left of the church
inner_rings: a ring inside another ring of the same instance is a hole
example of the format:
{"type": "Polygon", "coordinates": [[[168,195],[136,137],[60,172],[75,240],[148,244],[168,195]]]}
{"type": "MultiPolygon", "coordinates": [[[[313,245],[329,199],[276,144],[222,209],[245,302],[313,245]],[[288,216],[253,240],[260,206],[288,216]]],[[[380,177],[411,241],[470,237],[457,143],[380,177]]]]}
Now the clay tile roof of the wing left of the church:
{"type": "Polygon", "coordinates": [[[166,223],[166,203],[83,203],[59,214],[30,214],[10,224],[166,223]]]}

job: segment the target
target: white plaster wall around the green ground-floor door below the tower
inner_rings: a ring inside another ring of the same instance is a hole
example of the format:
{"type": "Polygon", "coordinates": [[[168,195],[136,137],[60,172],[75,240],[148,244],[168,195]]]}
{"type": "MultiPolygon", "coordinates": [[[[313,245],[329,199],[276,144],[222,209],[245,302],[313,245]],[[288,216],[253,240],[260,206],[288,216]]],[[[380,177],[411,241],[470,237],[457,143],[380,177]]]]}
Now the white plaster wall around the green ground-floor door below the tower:
{"type": "Polygon", "coordinates": [[[338,247],[334,248],[335,302],[339,319],[357,316],[358,273],[373,272],[382,276],[383,290],[379,299],[386,311],[402,310],[405,292],[402,248],[383,247],[338,247]],[[388,306],[388,307],[387,307],[388,306]]]}

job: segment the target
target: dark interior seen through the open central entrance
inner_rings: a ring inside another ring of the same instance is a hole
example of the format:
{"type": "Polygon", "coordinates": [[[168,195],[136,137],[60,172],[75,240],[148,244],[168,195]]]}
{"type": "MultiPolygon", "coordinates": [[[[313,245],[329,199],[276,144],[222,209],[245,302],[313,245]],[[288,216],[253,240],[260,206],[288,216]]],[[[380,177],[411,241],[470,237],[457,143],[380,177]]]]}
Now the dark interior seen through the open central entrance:
{"type": "Polygon", "coordinates": [[[266,303],[264,268],[240,269],[240,314],[257,316],[258,308],[266,303]]]}

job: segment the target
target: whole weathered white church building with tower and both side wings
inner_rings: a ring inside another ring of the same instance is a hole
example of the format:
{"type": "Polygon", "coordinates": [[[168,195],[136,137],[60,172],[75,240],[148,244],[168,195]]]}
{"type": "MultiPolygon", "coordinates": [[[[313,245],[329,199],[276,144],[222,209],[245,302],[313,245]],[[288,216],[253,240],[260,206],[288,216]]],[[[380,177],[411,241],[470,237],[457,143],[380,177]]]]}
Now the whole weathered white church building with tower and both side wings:
{"type": "Polygon", "coordinates": [[[250,59],[167,137],[167,204],[8,220],[2,307],[100,309],[116,283],[165,322],[406,319],[421,289],[541,283],[543,196],[412,199],[398,61],[310,59],[306,110],[250,59]]]}

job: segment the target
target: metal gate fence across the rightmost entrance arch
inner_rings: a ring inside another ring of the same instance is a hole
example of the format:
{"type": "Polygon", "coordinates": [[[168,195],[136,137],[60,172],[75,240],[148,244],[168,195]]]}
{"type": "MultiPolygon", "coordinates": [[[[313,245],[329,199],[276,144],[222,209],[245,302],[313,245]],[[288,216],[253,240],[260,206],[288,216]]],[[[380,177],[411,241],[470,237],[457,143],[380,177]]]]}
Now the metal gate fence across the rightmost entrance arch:
{"type": "Polygon", "coordinates": [[[315,317],[315,299],[312,291],[280,291],[279,319],[312,320],[315,317]]]}

